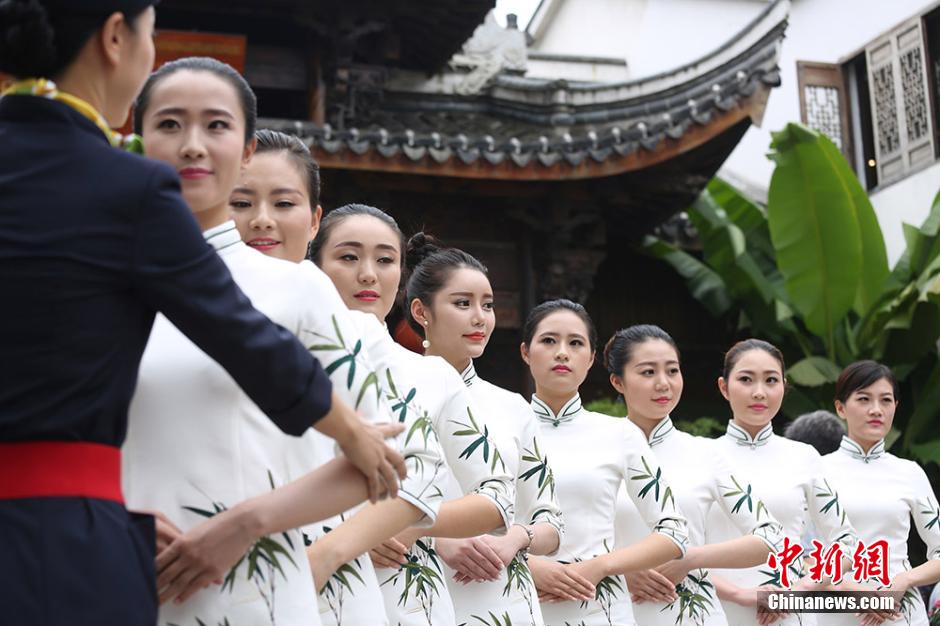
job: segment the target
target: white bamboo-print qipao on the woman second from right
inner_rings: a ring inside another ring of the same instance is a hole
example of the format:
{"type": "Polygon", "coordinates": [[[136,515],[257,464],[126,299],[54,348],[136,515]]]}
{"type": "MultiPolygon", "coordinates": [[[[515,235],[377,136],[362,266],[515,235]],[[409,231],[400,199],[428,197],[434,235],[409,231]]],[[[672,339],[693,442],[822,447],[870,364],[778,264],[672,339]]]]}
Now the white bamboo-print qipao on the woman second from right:
{"type": "MultiPolygon", "coordinates": [[[[827,546],[838,542],[846,554],[852,554],[858,535],[849,522],[834,485],[825,476],[822,458],[812,446],[775,435],[771,424],[751,437],[733,421],[728,422],[724,435],[715,440],[720,453],[727,459],[736,476],[746,476],[754,491],[783,525],[783,534],[799,545],[806,525],[812,522],[820,540],[827,546]]],[[[707,519],[705,541],[718,543],[740,536],[740,531],[719,510],[712,510],[707,519]]],[[[751,589],[764,585],[780,586],[780,574],[766,565],[742,569],[715,569],[719,575],[738,587],[751,589]]],[[[803,563],[790,565],[793,582],[803,575],[803,563]]],[[[757,626],[757,609],[722,600],[729,624],[757,626]]],[[[812,613],[791,614],[779,622],[781,626],[816,624],[812,613]]]]}

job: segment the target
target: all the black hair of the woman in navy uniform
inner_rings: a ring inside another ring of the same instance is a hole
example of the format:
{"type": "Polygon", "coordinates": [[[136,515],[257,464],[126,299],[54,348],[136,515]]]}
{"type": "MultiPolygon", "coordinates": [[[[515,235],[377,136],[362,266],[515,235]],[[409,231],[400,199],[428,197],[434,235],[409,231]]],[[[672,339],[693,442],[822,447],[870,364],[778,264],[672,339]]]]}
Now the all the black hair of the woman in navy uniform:
{"type": "Polygon", "coordinates": [[[80,6],[46,7],[39,0],[0,0],[0,72],[56,78],[112,14],[123,13],[135,32],[137,16],[146,8],[84,12],[80,6]]]}

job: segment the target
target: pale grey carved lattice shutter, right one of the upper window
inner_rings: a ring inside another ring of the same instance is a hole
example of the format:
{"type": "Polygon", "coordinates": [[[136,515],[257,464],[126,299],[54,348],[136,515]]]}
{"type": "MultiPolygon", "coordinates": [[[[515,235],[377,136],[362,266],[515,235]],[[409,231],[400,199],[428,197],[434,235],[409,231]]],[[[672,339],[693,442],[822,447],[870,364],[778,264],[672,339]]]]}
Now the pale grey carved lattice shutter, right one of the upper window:
{"type": "Polygon", "coordinates": [[[890,183],[934,159],[922,20],[879,38],[865,54],[878,178],[890,183]]]}

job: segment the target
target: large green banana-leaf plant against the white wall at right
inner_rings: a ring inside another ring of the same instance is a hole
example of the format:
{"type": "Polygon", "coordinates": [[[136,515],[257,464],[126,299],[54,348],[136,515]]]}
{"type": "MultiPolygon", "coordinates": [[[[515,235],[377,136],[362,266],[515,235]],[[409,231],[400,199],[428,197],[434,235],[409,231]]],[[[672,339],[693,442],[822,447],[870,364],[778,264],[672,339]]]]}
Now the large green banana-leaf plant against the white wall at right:
{"type": "Polygon", "coordinates": [[[871,203],[832,142],[789,124],[771,148],[766,210],[715,179],[689,209],[700,256],[655,237],[643,249],[712,315],[783,350],[786,415],[831,410],[842,368],[875,359],[902,383],[894,451],[940,464],[940,194],[920,228],[904,225],[889,271],[871,203]]]}

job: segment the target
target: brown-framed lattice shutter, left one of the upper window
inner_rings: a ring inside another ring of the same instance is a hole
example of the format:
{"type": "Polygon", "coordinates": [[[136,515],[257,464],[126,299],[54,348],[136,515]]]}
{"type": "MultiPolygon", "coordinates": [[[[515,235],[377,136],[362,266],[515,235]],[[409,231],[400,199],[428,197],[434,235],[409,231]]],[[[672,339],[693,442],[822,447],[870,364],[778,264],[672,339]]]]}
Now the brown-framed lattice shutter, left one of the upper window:
{"type": "Polygon", "coordinates": [[[848,106],[842,68],[829,63],[797,61],[800,118],[804,124],[828,136],[851,158],[848,106]]]}

